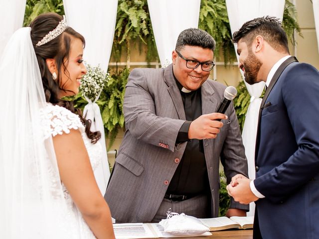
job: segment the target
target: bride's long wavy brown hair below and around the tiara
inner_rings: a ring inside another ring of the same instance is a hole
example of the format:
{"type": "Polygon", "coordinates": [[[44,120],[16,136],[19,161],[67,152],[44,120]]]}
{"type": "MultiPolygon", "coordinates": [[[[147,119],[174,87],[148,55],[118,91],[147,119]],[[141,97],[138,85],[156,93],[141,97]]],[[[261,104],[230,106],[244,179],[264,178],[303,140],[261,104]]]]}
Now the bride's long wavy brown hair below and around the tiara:
{"type": "Polygon", "coordinates": [[[82,41],[83,47],[85,45],[84,37],[73,30],[71,27],[67,27],[63,33],[55,37],[51,41],[45,43],[41,46],[36,46],[36,44],[50,31],[55,29],[55,27],[62,20],[62,16],[57,13],[44,13],[37,16],[31,23],[31,40],[35,55],[38,60],[42,84],[44,88],[44,94],[46,102],[49,102],[53,105],[62,106],[72,113],[77,114],[83,125],[85,125],[85,132],[88,138],[91,139],[92,143],[96,143],[101,138],[101,132],[96,131],[92,132],[90,130],[91,120],[84,119],[80,109],[75,109],[72,101],[65,101],[58,98],[58,93],[60,91],[70,92],[67,89],[64,89],[63,85],[61,86],[61,70],[63,69],[64,73],[68,76],[69,72],[66,69],[64,64],[64,59],[69,58],[70,46],[71,46],[71,37],[78,38],[82,41]],[[49,71],[46,59],[55,59],[57,64],[57,79],[53,80],[52,74],[49,71]]]}

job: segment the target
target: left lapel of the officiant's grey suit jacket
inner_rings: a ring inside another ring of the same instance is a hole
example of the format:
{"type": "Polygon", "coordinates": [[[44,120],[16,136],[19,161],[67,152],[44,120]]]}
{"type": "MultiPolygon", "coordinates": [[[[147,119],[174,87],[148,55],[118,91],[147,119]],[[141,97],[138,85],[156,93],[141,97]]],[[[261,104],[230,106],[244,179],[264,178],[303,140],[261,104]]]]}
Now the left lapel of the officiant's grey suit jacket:
{"type": "Polygon", "coordinates": [[[170,64],[164,70],[164,82],[168,86],[168,93],[173,101],[179,119],[186,120],[184,105],[180,96],[179,89],[173,76],[173,65],[170,64]]]}

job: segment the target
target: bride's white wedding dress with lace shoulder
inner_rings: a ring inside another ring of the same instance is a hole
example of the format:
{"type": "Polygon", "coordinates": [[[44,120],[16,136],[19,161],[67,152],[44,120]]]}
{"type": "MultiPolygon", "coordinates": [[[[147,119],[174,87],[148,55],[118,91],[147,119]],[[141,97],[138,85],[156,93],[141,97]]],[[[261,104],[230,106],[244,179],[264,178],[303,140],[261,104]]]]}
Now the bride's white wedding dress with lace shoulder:
{"type": "MultiPolygon", "coordinates": [[[[69,133],[70,129],[79,129],[88,151],[93,171],[99,166],[101,163],[102,147],[99,142],[96,144],[91,143],[91,139],[87,137],[85,127],[77,115],[63,107],[47,104],[46,107],[41,110],[40,117],[45,138],[48,138],[51,135],[54,137],[57,134],[69,133]]],[[[58,189],[63,191],[66,200],[66,209],[64,210],[63,215],[54,215],[63,222],[62,224],[60,223],[63,228],[57,230],[64,231],[62,234],[65,237],[63,238],[95,239],[95,236],[84,221],[81,212],[74,204],[69,192],[63,183],[61,183],[60,180],[57,181],[56,177],[53,175],[55,174],[52,173],[52,197],[54,197],[56,193],[61,193],[56,192],[58,189]],[[58,185],[59,187],[56,187],[57,184],[60,184],[58,185]]],[[[52,210],[52,212],[53,211],[54,210],[52,210]]]]}

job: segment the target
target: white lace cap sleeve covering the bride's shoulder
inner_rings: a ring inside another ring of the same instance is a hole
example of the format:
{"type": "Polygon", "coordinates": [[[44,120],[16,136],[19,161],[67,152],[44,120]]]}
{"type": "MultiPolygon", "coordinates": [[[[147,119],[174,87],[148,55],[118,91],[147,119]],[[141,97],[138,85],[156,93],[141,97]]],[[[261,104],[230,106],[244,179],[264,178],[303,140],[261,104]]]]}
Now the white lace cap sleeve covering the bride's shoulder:
{"type": "Polygon", "coordinates": [[[70,129],[84,129],[79,116],[61,106],[46,104],[40,110],[40,117],[45,138],[69,133],[70,129]]]}

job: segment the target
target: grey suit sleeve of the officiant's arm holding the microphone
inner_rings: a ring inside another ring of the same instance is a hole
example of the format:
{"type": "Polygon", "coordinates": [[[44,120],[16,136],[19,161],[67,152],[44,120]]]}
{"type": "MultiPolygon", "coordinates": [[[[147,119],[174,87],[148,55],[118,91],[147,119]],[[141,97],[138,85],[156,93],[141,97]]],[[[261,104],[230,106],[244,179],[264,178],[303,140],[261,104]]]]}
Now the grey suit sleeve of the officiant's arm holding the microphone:
{"type": "MultiPolygon", "coordinates": [[[[160,77],[159,74],[156,80],[162,80],[160,77]]],[[[168,145],[168,150],[174,150],[178,130],[185,120],[156,115],[156,102],[150,93],[145,70],[136,68],[130,73],[123,111],[125,126],[134,137],[155,146],[163,143],[168,145]]]]}

